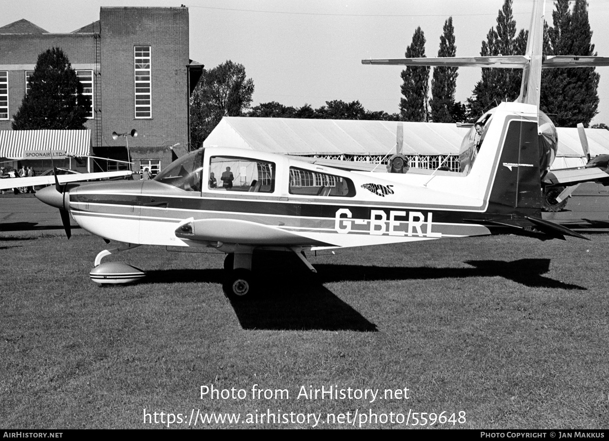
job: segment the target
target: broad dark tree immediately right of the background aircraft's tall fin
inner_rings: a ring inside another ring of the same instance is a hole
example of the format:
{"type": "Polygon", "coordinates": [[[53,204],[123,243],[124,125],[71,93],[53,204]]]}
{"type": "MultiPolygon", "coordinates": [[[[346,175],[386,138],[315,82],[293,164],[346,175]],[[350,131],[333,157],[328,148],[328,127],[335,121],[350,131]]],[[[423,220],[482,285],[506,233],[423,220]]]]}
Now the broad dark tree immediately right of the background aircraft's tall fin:
{"type": "MultiPolygon", "coordinates": [[[[547,55],[596,55],[591,44],[587,2],[558,0],[547,29],[547,55]]],[[[541,109],[558,127],[588,127],[598,113],[600,75],[594,68],[545,69],[541,80],[541,109]]]]}

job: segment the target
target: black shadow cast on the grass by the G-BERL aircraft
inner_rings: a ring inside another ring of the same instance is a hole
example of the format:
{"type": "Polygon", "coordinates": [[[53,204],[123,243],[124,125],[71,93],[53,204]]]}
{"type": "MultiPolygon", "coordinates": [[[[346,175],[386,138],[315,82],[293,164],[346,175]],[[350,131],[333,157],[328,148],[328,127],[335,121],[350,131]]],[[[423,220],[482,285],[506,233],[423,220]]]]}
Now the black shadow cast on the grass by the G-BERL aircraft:
{"type": "MultiPolygon", "coordinates": [[[[231,305],[244,329],[266,330],[351,330],[376,332],[353,307],[343,302],[323,283],[341,281],[431,280],[468,277],[503,277],[530,288],[585,290],[543,276],[550,259],[468,260],[474,268],[410,268],[362,265],[315,265],[318,274],[292,266],[286,271],[259,268],[261,293],[231,305]]],[[[279,263],[280,266],[281,263],[279,263]]],[[[174,269],[149,271],[144,283],[208,282],[221,284],[222,269],[174,269]]]]}

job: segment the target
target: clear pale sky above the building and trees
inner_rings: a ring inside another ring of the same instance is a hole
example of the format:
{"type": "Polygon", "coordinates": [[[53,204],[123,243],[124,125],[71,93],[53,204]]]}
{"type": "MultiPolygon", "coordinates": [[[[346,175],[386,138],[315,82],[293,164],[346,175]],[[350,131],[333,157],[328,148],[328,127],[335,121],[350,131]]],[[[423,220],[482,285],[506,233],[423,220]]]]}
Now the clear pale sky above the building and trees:
{"type": "MultiPolygon", "coordinates": [[[[189,7],[192,60],[214,68],[245,66],[252,105],[276,101],[314,108],[359,100],[368,110],[399,111],[401,66],[364,66],[362,58],[404,57],[421,26],[426,55],[437,55],[452,16],[457,56],[479,55],[503,0],[182,0],[189,7]]],[[[593,44],[609,56],[609,0],[588,0],[593,44]]],[[[0,26],[27,19],[49,32],[72,32],[99,19],[101,6],[180,6],[179,0],[0,0],[0,26]]],[[[527,28],[532,0],[514,0],[516,26],[527,28]]],[[[551,23],[552,1],[546,1],[551,23]]],[[[609,124],[609,68],[600,73],[599,114],[609,124]]],[[[460,68],[458,101],[471,95],[481,70],[460,68]]]]}

